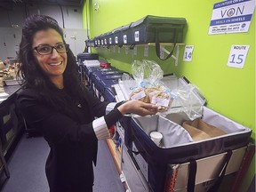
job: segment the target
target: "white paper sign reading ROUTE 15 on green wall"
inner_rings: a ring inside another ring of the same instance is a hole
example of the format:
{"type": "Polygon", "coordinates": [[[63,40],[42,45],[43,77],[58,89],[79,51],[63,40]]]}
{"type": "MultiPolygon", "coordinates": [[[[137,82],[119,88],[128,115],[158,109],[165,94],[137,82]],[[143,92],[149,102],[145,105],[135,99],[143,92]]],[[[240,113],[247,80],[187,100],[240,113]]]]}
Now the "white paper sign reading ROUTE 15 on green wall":
{"type": "Polygon", "coordinates": [[[228,67],[244,68],[244,62],[246,60],[249,47],[250,45],[233,44],[228,57],[228,67]]]}

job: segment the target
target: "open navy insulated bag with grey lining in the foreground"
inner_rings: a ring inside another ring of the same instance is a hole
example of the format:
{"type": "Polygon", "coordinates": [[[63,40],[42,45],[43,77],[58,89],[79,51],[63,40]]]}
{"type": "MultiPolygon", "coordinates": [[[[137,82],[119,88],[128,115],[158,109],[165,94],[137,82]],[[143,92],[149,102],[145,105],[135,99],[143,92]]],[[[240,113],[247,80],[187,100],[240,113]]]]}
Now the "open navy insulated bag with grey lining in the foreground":
{"type": "MultiPolygon", "coordinates": [[[[140,159],[137,156],[142,156],[145,160],[145,162],[139,160],[137,164],[140,164],[144,177],[148,180],[149,186],[153,188],[154,191],[164,191],[164,182],[166,181],[167,175],[166,171],[168,170],[166,166],[170,168],[173,164],[196,164],[197,160],[202,160],[205,157],[211,158],[218,154],[222,154],[220,163],[218,163],[221,164],[221,161],[225,161],[225,156],[229,156],[232,150],[246,146],[251,135],[249,128],[241,124],[236,124],[227,117],[221,116],[206,107],[204,107],[202,120],[208,124],[221,127],[227,134],[208,140],[194,141],[188,131],[180,124],[176,124],[175,120],[176,119],[172,118],[172,116],[132,117],[130,124],[131,132],[128,133],[125,129],[125,134],[130,135],[128,138],[126,137],[126,143],[131,150],[130,154],[132,154],[135,160],[140,159]],[[150,139],[149,134],[153,131],[163,134],[162,147],[156,146],[155,142],[150,139]],[[225,152],[228,153],[225,154],[225,152]],[[143,171],[143,167],[147,167],[146,171],[145,169],[143,171]]],[[[244,148],[242,150],[245,152],[244,148]]],[[[243,152],[239,151],[238,153],[242,153],[242,155],[239,156],[238,159],[233,158],[232,160],[241,163],[244,156],[243,152]]],[[[218,167],[218,164],[215,163],[216,167],[212,170],[215,175],[210,172],[209,174],[213,174],[212,178],[204,178],[207,179],[205,181],[218,177],[216,175],[220,173],[218,170],[223,168],[218,167]]],[[[200,164],[197,164],[197,167],[199,167],[199,165],[200,164]]],[[[204,165],[207,167],[214,166],[213,163],[205,164],[205,162],[204,165]]],[[[228,164],[226,164],[226,166],[227,165],[228,164]]],[[[235,171],[238,171],[238,167],[235,168],[235,171]]],[[[172,170],[169,170],[169,172],[172,172],[172,170]]],[[[197,174],[200,174],[200,172],[198,171],[197,174]]],[[[185,180],[183,181],[185,184],[188,183],[187,177],[188,175],[182,178],[182,180],[185,180]]],[[[206,177],[205,174],[204,177],[206,177]]],[[[192,185],[194,185],[193,188],[195,188],[195,182],[196,178],[192,183],[192,185]]],[[[186,185],[181,187],[186,188],[186,185]]]]}

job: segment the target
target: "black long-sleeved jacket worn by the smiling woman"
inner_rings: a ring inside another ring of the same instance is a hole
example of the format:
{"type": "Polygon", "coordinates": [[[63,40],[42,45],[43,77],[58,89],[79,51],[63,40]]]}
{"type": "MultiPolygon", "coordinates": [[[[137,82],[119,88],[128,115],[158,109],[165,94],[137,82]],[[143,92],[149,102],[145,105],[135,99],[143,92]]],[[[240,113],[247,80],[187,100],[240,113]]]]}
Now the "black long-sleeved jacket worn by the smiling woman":
{"type": "MultiPolygon", "coordinates": [[[[51,192],[92,191],[92,162],[96,164],[98,148],[92,121],[94,116],[106,114],[108,103],[100,102],[91,92],[85,91],[85,95],[82,106],[67,99],[68,110],[61,112],[35,90],[23,90],[18,96],[18,107],[28,126],[42,132],[51,148],[45,166],[51,192]]],[[[115,119],[113,113],[111,122],[116,122],[120,112],[115,119]]]]}

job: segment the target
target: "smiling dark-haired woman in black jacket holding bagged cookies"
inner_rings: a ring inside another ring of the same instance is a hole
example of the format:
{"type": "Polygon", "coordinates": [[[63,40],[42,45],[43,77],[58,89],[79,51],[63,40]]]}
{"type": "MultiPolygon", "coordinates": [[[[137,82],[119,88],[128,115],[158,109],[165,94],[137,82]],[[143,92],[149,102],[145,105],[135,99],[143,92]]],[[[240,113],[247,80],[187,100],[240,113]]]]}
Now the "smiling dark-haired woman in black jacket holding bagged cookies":
{"type": "Polygon", "coordinates": [[[154,115],[157,107],[94,98],[80,83],[75,57],[49,16],[25,21],[19,60],[25,89],[18,105],[27,124],[42,132],[51,148],[45,167],[50,191],[92,191],[97,141],[108,138],[108,128],[124,114],[154,115]]]}

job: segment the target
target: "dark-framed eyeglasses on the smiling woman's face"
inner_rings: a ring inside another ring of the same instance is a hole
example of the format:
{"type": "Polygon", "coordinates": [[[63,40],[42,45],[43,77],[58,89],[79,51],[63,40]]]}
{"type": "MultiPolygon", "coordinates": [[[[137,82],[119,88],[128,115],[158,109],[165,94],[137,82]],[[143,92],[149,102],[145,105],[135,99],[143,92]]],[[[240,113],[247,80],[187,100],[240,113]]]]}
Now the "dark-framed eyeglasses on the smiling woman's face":
{"type": "Polygon", "coordinates": [[[55,46],[40,44],[34,47],[34,50],[40,55],[47,55],[52,54],[53,48],[59,53],[68,52],[68,44],[56,44],[55,46]]]}

